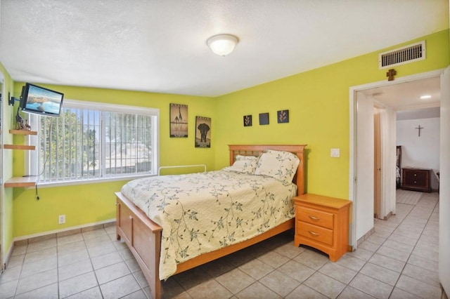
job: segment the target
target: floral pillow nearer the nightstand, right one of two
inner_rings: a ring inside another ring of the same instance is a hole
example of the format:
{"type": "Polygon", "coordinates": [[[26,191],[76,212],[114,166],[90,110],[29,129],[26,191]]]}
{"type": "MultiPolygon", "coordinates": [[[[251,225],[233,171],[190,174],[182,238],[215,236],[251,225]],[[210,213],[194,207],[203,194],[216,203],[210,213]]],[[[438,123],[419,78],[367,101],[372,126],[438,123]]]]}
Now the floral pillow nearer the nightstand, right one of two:
{"type": "Polygon", "coordinates": [[[255,175],[269,175],[289,184],[293,181],[299,163],[300,159],[291,152],[266,150],[259,157],[255,175]]]}

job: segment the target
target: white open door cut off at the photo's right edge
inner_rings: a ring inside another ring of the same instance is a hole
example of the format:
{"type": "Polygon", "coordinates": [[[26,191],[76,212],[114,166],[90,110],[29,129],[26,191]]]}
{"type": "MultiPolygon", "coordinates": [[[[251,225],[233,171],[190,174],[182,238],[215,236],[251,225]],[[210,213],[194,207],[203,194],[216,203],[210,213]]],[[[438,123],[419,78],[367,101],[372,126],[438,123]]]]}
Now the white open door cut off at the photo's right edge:
{"type": "Polygon", "coordinates": [[[441,75],[439,281],[450,295],[450,67],[441,75]]]}

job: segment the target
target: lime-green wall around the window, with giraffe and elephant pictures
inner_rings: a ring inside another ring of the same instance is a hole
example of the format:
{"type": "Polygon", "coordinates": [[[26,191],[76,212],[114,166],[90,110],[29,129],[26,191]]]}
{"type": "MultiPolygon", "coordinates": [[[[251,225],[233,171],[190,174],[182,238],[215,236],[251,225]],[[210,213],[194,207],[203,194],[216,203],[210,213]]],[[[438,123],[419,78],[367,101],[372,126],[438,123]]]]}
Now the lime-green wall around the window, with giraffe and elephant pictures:
{"type": "MultiPolygon", "coordinates": [[[[101,88],[49,86],[63,92],[65,98],[160,109],[160,166],[206,164],[215,167],[215,102],[211,98],[186,95],[167,95],[134,91],[117,91],[101,88]],[[188,138],[169,138],[169,104],[188,105],[188,138]],[[212,118],[211,148],[195,148],[195,116],[212,118]]],[[[23,83],[15,83],[15,96],[19,96],[23,83]]],[[[17,105],[16,105],[17,106],[17,105]]],[[[17,109],[17,108],[15,108],[17,109]]],[[[15,111],[15,110],[14,110],[15,111]]],[[[16,136],[15,143],[23,142],[16,136]]],[[[22,151],[15,151],[14,175],[23,175],[22,151]]],[[[124,180],[64,187],[40,187],[39,201],[34,188],[14,188],[13,234],[27,236],[65,227],[84,225],[115,218],[115,197],[124,180]],[[58,225],[58,215],[65,214],[66,222],[58,225]]]]}

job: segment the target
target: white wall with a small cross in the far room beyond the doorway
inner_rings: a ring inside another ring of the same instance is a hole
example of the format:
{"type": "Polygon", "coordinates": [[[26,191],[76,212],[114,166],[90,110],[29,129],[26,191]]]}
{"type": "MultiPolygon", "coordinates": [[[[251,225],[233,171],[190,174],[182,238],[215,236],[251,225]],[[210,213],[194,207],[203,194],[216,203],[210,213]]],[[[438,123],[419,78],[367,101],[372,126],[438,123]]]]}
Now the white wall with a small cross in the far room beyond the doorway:
{"type": "MultiPolygon", "coordinates": [[[[401,145],[401,167],[431,168],[439,172],[440,119],[407,119],[397,121],[397,145],[401,145]],[[418,126],[423,127],[418,136],[418,126]]],[[[435,174],[432,189],[437,189],[435,174]]]]}

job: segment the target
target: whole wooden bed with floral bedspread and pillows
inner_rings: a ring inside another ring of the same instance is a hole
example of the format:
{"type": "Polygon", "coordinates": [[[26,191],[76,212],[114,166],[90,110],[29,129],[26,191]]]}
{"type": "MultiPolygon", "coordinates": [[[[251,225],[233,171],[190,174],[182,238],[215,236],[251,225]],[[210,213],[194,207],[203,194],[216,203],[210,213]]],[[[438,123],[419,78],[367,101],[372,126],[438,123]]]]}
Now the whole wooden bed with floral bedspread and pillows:
{"type": "Polygon", "coordinates": [[[304,194],[305,146],[229,145],[230,166],[220,171],[133,180],[115,192],[117,239],[136,258],[153,298],[160,298],[162,279],[293,228],[292,197],[304,194]],[[266,172],[264,165],[275,160],[292,170],[266,172]],[[205,175],[211,177],[207,187],[200,184],[205,175]],[[181,190],[185,183],[195,187],[181,190]],[[181,194],[188,198],[182,201],[181,194]],[[202,209],[190,206],[194,201],[202,209]],[[258,201],[262,207],[255,206],[258,201]],[[209,223],[207,229],[200,222],[209,223]]]}

